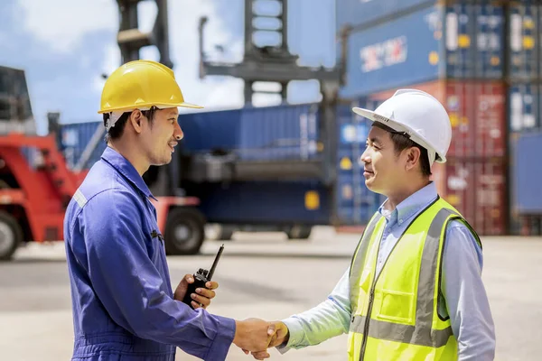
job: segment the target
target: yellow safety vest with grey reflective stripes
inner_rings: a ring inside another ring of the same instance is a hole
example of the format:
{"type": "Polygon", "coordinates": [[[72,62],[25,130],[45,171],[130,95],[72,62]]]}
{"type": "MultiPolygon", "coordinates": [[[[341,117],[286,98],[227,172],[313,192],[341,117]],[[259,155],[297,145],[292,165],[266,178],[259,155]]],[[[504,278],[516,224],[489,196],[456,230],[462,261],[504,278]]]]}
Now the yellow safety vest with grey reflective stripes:
{"type": "Polygon", "coordinates": [[[457,360],[450,319],[437,311],[445,230],[453,219],[480,244],[439,197],[406,228],[376,279],[385,218],[376,213],[370,220],[350,266],[350,361],[457,360]]]}

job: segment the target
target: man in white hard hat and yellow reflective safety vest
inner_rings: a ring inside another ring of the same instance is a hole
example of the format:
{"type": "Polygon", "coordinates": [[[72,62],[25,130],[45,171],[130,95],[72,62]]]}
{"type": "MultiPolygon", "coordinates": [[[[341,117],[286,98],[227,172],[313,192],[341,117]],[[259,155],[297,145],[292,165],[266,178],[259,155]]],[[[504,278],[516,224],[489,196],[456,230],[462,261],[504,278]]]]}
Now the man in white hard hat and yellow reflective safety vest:
{"type": "Polygon", "coordinates": [[[365,183],[388,199],[327,300],[276,322],[270,347],[284,353],[348,333],[349,360],[493,360],[480,238],[430,180],[452,140],[444,106],[403,89],[375,111],[353,111],[373,122],[365,183]]]}

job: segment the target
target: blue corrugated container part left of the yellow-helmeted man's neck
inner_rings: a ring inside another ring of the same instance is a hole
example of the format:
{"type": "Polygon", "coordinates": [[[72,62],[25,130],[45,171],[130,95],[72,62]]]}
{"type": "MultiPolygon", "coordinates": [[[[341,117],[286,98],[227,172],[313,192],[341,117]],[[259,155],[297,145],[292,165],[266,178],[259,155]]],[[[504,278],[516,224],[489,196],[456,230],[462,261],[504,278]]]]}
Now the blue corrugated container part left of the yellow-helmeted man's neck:
{"type": "MultiPolygon", "coordinates": [[[[77,164],[98,126],[103,126],[103,124],[101,122],[87,122],[61,125],[61,151],[69,168],[73,168],[77,164]]],[[[98,162],[106,147],[107,143],[105,139],[98,143],[98,146],[90,156],[87,168],[92,167],[95,162],[98,162]]]]}

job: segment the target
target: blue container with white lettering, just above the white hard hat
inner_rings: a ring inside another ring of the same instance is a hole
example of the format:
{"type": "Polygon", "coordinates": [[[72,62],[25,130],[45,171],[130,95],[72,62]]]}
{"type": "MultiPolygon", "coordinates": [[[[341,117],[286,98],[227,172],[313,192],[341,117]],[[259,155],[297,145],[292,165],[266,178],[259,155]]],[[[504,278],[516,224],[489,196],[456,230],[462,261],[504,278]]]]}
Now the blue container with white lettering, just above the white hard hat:
{"type": "Polygon", "coordinates": [[[500,79],[503,17],[487,4],[435,5],[352,32],[341,97],[435,79],[500,79]]]}

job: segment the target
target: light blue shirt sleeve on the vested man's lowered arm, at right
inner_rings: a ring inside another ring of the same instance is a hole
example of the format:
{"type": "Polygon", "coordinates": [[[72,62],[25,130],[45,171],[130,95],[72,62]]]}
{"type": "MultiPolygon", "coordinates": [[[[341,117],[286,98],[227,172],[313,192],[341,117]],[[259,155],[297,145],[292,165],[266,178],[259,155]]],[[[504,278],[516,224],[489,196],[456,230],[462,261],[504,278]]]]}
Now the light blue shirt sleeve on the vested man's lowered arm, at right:
{"type": "MultiPolygon", "coordinates": [[[[495,357],[495,326],[481,280],[481,247],[462,222],[446,229],[443,284],[446,310],[457,338],[459,361],[491,361],[495,357]]],[[[441,303],[442,304],[442,303],[441,303]]]]}

